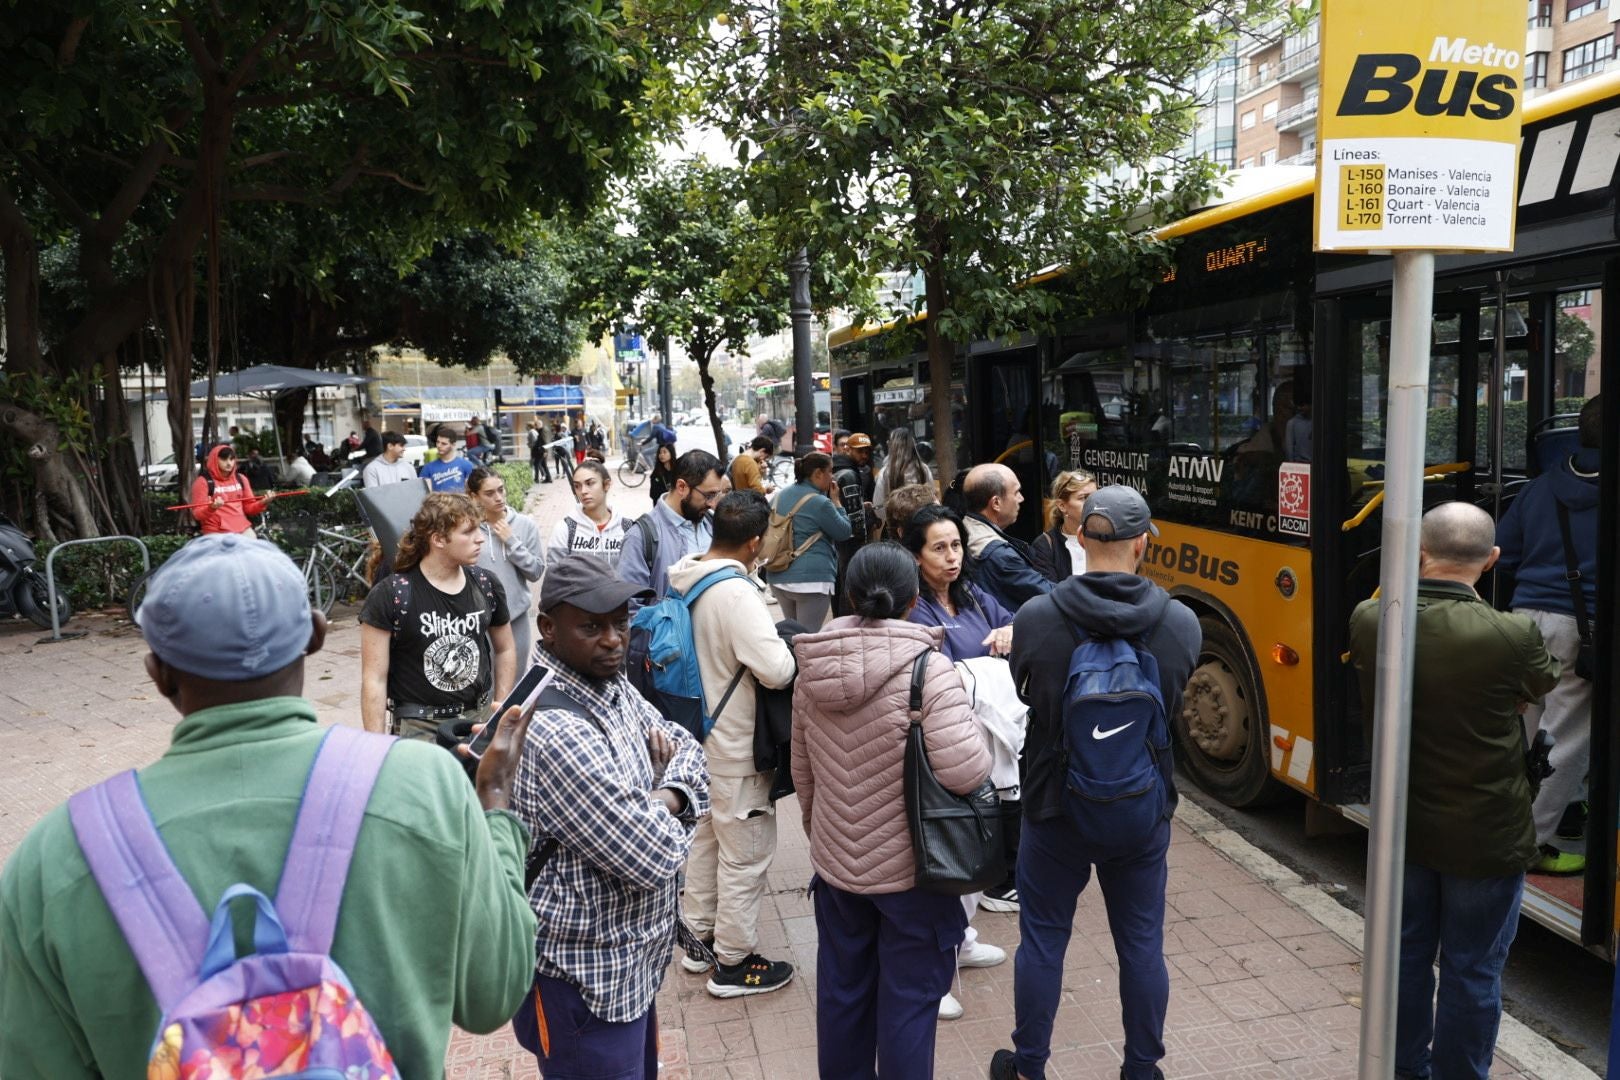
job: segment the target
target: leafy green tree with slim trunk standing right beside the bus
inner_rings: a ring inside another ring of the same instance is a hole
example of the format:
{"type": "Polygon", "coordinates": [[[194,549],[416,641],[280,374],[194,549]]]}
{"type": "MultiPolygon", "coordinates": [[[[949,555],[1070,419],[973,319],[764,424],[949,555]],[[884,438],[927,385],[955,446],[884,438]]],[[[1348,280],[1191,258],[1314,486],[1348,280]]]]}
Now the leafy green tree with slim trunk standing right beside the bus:
{"type": "MultiPolygon", "coordinates": [[[[682,86],[748,164],[781,244],[920,270],[935,429],[956,342],[1058,317],[1155,254],[1142,225],[1194,202],[1168,162],[1189,87],[1270,0],[734,0],[682,86]],[[1021,288],[1055,264],[1069,288],[1021,288]]],[[[1145,280],[1145,272],[1142,274],[1145,280]]],[[[951,439],[936,453],[953,466],[951,439]]]]}

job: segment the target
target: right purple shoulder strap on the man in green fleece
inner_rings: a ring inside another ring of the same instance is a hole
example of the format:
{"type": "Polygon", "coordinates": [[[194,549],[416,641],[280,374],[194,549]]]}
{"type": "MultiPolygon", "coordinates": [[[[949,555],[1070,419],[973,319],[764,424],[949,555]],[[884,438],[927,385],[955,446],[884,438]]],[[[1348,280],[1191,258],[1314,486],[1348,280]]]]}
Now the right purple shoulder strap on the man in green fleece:
{"type": "Polygon", "coordinates": [[[332,950],[366,800],[392,748],[392,737],[352,727],[327,729],[321,740],[275,889],[275,912],[293,952],[332,950]]]}

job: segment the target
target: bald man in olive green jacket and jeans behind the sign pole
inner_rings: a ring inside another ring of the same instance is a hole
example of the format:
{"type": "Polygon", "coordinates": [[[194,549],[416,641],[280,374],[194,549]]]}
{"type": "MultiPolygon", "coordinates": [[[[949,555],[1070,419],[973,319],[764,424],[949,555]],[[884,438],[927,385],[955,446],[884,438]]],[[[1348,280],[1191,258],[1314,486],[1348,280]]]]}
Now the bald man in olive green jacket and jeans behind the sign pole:
{"type": "MultiPolygon", "coordinates": [[[[1395,1012],[1401,1080],[1490,1072],[1502,965],[1524,868],[1539,858],[1518,717],[1558,682],[1558,662],[1531,617],[1498,612],[1474,593],[1497,560],[1490,533],[1490,515],[1466,502],[1422,518],[1395,1012]]],[[[1377,654],[1379,601],[1362,601],[1349,617],[1349,659],[1367,703],[1377,654]]]]}

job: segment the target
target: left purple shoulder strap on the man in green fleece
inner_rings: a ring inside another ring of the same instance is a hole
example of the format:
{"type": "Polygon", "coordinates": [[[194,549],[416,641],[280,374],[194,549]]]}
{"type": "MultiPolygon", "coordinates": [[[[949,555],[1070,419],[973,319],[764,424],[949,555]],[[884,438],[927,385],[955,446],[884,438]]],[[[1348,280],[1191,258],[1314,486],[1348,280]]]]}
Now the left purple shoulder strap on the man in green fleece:
{"type": "Polygon", "coordinates": [[[134,772],[68,800],[84,861],[167,1014],[196,984],[209,920],[168,857],[134,772]]]}

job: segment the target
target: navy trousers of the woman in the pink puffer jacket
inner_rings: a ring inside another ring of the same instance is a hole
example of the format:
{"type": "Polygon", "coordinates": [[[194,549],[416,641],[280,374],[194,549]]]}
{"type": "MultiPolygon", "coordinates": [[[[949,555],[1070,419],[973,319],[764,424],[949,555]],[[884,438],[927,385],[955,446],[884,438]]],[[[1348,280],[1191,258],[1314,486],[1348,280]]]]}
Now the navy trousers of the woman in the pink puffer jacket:
{"type": "Polygon", "coordinates": [[[967,929],[961,897],[855,894],[820,878],[810,892],[823,1080],[932,1080],[940,999],[967,929]]]}

